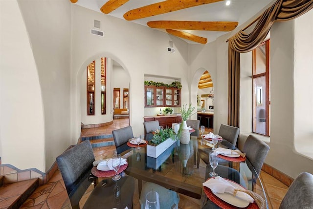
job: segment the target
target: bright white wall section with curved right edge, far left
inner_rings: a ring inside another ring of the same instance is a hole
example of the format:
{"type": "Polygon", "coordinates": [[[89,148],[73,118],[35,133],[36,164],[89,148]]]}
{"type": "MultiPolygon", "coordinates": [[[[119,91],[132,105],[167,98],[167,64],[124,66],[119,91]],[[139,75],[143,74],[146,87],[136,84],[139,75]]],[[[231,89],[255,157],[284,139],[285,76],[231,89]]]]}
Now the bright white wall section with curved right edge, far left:
{"type": "Polygon", "coordinates": [[[45,120],[38,69],[16,0],[0,1],[2,164],[45,171],[45,120]]]}

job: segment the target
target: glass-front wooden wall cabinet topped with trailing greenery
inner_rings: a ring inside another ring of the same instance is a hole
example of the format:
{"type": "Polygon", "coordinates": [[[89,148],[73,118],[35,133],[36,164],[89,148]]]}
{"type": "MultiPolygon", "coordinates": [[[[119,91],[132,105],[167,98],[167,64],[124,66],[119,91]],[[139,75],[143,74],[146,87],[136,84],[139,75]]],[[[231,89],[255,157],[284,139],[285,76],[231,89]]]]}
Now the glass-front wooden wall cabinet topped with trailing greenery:
{"type": "Polygon", "coordinates": [[[145,86],[145,107],[179,107],[180,89],[145,86]]]}

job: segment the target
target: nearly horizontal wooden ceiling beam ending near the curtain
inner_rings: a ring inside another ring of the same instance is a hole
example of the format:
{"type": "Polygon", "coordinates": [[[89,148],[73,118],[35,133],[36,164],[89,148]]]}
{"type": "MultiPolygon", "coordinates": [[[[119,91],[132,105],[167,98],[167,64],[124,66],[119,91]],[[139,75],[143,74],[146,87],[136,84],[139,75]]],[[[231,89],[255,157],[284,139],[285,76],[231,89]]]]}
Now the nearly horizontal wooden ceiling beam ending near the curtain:
{"type": "Polygon", "coordinates": [[[150,21],[147,25],[163,29],[231,31],[237,27],[238,22],[150,21]]]}

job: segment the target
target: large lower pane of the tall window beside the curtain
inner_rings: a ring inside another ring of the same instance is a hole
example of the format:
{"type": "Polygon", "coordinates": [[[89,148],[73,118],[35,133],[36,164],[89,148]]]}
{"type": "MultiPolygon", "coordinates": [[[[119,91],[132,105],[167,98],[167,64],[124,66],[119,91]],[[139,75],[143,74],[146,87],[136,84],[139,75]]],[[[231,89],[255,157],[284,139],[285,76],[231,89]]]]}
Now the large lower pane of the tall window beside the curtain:
{"type": "Polygon", "coordinates": [[[266,134],[266,80],[265,76],[254,78],[253,132],[266,134]]]}

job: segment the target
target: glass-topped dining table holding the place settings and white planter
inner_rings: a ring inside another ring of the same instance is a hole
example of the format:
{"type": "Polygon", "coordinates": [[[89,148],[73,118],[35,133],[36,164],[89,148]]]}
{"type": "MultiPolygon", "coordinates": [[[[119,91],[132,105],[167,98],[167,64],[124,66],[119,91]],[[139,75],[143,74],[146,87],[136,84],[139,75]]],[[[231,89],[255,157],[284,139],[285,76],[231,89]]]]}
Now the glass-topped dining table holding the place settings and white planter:
{"type": "MultiPolygon", "coordinates": [[[[210,141],[191,136],[189,144],[181,144],[177,140],[157,158],[147,156],[146,147],[140,149],[124,147],[121,148],[124,150],[122,155],[128,161],[124,172],[138,180],[139,195],[143,182],[152,182],[180,194],[201,199],[204,194],[202,183],[210,178],[208,174],[212,168],[209,164],[205,168],[197,168],[199,158],[197,150],[199,147],[211,149],[212,146],[210,141]]],[[[217,147],[236,149],[227,140],[219,141],[217,147]]],[[[246,158],[242,162],[238,161],[238,158],[228,160],[234,161],[229,163],[232,167],[218,165],[216,173],[245,189],[257,192],[267,202],[262,182],[251,163],[246,158]]],[[[207,198],[207,201],[210,201],[210,198],[207,198]]],[[[225,204],[228,204],[227,200],[225,204]]]]}

